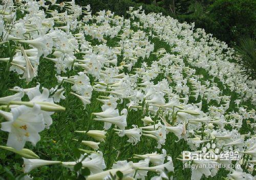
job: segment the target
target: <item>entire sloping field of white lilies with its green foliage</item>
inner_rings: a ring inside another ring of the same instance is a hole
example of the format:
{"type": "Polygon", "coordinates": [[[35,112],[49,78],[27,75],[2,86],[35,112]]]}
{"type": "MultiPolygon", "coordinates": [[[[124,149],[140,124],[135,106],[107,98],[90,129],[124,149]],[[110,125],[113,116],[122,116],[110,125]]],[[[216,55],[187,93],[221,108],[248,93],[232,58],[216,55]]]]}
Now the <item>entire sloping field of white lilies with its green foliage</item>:
{"type": "Polygon", "coordinates": [[[256,80],[162,14],[0,2],[0,179],[256,179],[256,80]]]}

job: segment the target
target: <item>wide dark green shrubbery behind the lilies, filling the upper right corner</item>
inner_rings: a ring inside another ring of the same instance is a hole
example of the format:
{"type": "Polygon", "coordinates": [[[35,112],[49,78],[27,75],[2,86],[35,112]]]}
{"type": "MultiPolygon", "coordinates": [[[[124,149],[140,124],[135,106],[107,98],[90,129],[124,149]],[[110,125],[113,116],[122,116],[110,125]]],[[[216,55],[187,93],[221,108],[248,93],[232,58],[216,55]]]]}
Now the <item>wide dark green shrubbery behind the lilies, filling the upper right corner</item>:
{"type": "Polygon", "coordinates": [[[176,18],[195,22],[196,28],[202,28],[229,45],[235,45],[241,37],[255,37],[255,7],[254,0],[217,0],[209,7],[192,3],[187,14],[176,18]]]}

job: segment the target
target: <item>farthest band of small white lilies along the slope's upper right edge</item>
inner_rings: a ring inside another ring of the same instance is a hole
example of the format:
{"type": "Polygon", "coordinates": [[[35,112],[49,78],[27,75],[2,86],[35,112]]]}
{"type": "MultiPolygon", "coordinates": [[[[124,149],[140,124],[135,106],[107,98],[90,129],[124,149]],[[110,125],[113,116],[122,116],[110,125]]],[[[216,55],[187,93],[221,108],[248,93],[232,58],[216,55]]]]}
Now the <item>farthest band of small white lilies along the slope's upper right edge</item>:
{"type": "Polygon", "coordinates": [[[241,100],[251,100],[256,105],[256,81],[247,80],[239,72],[242,67],[230,60],[234,50],[226,43],[212,38],[203,29],[194,29],[195,24],[179,23],[172,17],[161,14],[147,14],[136,10],[131,12],[132,18],[139,18],[143,28],[150,28],[157,37],[173,47],[173,52],[178,53],[190,68],[205,69],[209,75],[218,78],[224,88],[229,88],[241,96],[241,100]]]}

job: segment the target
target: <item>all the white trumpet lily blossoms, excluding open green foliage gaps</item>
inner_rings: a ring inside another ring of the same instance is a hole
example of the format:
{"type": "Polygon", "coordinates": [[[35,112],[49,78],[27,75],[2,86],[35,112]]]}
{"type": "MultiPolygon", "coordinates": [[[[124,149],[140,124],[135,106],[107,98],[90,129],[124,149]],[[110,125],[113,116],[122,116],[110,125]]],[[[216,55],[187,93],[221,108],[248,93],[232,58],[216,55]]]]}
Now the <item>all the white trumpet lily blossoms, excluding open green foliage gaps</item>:
{"type": "MultiPolygon", "coordinates": [[[[49,61],[54,64],[57,79],[50,90],[39,83],[27,89],[14,85],[14,95],[0,98],[0,114],[6,119],[1,130],[9,133],[7,146],[1,147],[24,157],[25,173],[52,164],[74,170],[81,163],[77,174],[89,168],[86,179],[112,179],[119,171],[122,179],[145,179],[148,171],[155,173],[152,179],[169,179],[173,178],[170,172],[176,169],[166,153],[168,149],[162,146],[171,137],[183,140],[189,146],[184,150],[191,152],[208,151],[220,156],[224,151],[238,151],[242,158],[236,162],[217,159],[183,163],[236,163],[242,168],[226,168],[226,178],[253,179],[256,137],[239,130],[243,122],[251,128],[255,126],[255,109],[242,104],[256,104],[256,81],[246,80],[238,73],[242,68],[230,62],[236,57],[225,43],[201,29],[195,30],[194,24],[179,23],[161,14],[146,15],[141,7],[130,8],[131,17],[124,19],[111,11],[92,15],[90,5],[80,7],[74,1],[14,2],[4,0],[0,6],[0,37],[1,44],[13,42],[16,49],[13,57],[0,57],[0,61],[10,62],[9,70],[26,82],[38,75],[41,61],[49,61]],[[18,12],[22,14],[20,18],[16,17],[18,12]],[[108,45],[114,38],[118,39],[115,46],[108,45]],[[152,38],[167,43],[172,52],[156,49],[152,38]],[[92,45],[95,41],[97,45],[92,45]],[[151,56],[155,60],[148,62],[151,56]],[[199,68],[213,78],[205,80],[202,74],[197,74],[199,68]],[[71,84],[70,92],[63,84],[71,84]],[[223,89],[237,93],[239,99],[232,99],[223,89]],[[92,103],[93,93],[100,94],[94,100],[100,102],[102,111],[92,112],[92,121],[104,123],[103,130],[77,130],[74,134],[93,138],[96,142],[81,143],[94,151],[84,150],[76,161],[62,162],[41,160],[24,148],[26,141],[36,145],[39,133],[54,123],[54,112],[69,109],[55,103],[74,95],[86,109],[92,103]],[[24,97],[29,100],[23,100],[24,97]],[[190,103],[191,98],[201,100],[190,103]],[[216,106],[208,106],[211,102],[216,106]],[[229,111],[231,103],[236,104],[236,109],[229,111]],[[138,111],[143,118],[129,126],[127,116],[138,111]],[[135,147],[143,146],[142,138],[150,140],[162,153],[134,155],[134,161],[112,162],[112,168],[106,169],[104,155],[99,151],[101,143],[108,143],[106,131],[114,131],[120,138],[125,136],[127,144],[135,147]]],[[[213,166],[191,169],[191,179],[215,176],[218,171],[213,166]]],[[[29,175],[25,178],[32,179],[29,175]]]]}

